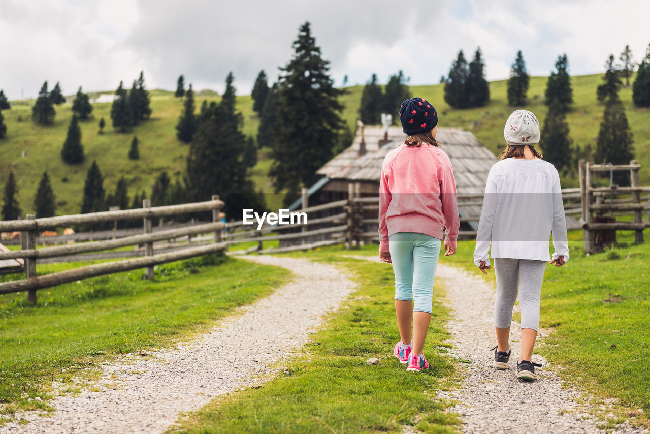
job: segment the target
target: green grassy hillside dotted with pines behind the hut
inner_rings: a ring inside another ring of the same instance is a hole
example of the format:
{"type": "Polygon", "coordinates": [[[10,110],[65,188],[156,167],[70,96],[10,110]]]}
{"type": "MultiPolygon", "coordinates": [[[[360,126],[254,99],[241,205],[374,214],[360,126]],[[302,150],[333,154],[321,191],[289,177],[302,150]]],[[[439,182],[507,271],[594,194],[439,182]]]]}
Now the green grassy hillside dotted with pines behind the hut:
{"type": "MultiPolygon", "coordinates": [[[[603,105],[596,101],[596,87],[601,82],[602,74],[571,77],[575,103],[567,116],[571,127],[571,137],[577,146],[584,148],[591,144],[595,149],[603,105]]],[[[526,109],[533,111],[540,122],[546,117],[547,109],[543,105],[543,93],[547,77],[532,77],[528,90],[529,103],[526,109]]],[[[349,87],[341,98],[345,109],[344,120],[350,128],[356,128],[356,116],[361,98],[361,86],[349,87]]],[[[476,109],[450,109],[443,100],[441,85],[411,87],[411,93],[434,102],[439,113],[440,126],[455,126],[472,131],[486,147],[497,154],[504,146],[503,125],[513,107],[508,107],[506,100],[506,81],[490,83],[491,100],[486,107],[476,109]]],[[[129,195],[135,191],[150,192],[155,177],[167,170],[172,181],[182,176],[185,170],[185,156],[188,145],[176,139],[175,124],[183,103],[175,98],[173,92],[152,90],[151,108],[153,116],[148,122],[137,126],[130,133],[118,133],[110,126],[110,103],[94,104],[91,120],[81,122],[82,142],[86,161],[81,165],[68,165],[60,158],[60,150],[66,137],[66,131],[72,117],[71,103],[57,106],[57,116],[53,125],[39,126],[31,120],[33,101],[18,103],[10,110],[3,111],[8,135],[0,140],[0,189],[4,187],[9,170],[16,174],[19,194],[18,200],[23,213],[32,211],[32,202],[38,181],[44,170],[51,176],[52,187],[57,195],[59,215],[78,213],[86,172],[93,159],[97,159],[104,176],[107,191],[113,191],[120,176],[127,179],[129,195]],[[103,117],[107,126],[103,134],[98,134],[99,118],[103,117]],[[128,159],[129,145],[133,135],[140,141],[140,160],[128,159]],[[25,157],[22,153],[25,152],[25,157]]],[[[625,103],[627,117],[634,132],[636,157],[645,167],[640,173],[641,182],[650,184],[650,113],[647,109],[636,109],[632,105],[631,90],[621,90],[621,99],[625,103]]],[[[220,96],[211,91],[198,92],[197,105],[203,99],[218,101],[220,96]]],[[[237,107],[244,117],[244,133],[256,135],[259,120],[252,111],[250,96],[238,96],[237,107]]],[[[243,144],[233,144],[243,146],[243,144]]],[[[272,187],[266,177],[270,167],[268,150],[259,154],[259,162],[252,169],[252,177],[257,187],[270,193],[272,187]]],[[[577,185],[577,180],[563,180],[564,187],[577,185]]],[[[218,192],[206,192],[209,195],[218,192]]],[[[275,198],[269,205],[277,208],[280,198],[275,198]]]]}

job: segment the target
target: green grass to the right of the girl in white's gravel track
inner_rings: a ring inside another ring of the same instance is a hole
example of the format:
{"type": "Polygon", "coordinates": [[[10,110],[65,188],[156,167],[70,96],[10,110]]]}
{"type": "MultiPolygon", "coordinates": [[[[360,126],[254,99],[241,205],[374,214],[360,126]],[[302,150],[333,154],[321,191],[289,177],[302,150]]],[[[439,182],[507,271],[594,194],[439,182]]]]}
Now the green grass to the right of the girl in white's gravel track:
{"type": "MultiPolygon", "coordinates": [[[[632,243],[633,234],[619,231],[612,249],[585,256],[582,231],[569,232],[571,259],[544,276],[539,325],[552,333],[536,351],[592,396],[617,398],[618,417],[650,426],[650,243],[632,243]]],[[[494,284],[493,270],[473,264],[474,245],[460,241],[448,259],[494,284]]]]}

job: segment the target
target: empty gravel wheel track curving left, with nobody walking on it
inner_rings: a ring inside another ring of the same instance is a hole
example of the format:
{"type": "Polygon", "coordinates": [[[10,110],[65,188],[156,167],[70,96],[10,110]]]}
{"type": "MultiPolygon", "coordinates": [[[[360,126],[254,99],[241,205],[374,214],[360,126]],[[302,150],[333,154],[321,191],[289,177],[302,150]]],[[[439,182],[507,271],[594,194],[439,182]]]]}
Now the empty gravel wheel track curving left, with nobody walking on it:
{"type": "Polygon", "coordinates": [[[322,316],[354,290],[348,276],[331,265],[274,256],[246,258],[285,267],[296,278],[265,299],[238,308],[197,340],[153,351],[151,358],[132,355],[104,366],[101,392],[55,398],[53,416],[27,414],[27,426],[8,424],[0,433],[162,433],[179,413],[265,381],[258,376],[272,373],[268,366],[304,345],[322,316]]]}

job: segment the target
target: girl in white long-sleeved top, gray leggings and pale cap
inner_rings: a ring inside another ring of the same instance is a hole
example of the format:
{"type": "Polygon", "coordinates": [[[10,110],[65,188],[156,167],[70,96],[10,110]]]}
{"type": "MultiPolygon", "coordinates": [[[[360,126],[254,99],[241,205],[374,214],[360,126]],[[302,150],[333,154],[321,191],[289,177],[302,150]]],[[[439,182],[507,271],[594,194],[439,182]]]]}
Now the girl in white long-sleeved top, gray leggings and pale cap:
{"type": "Polygon", "coordinates": [[[534,148],[539,142],[539,121],[530,111],[517,110],[506,122],[504,137],[508,146],[487,176],[474,263],[487,274],[492,268],[488,258],[491,244],[497,278],[495,368],[508,367],[512,308],[519,292],[521,352],[517,376],[533,380],[536,375],[531,357],[545,264],[551,260],[556,267],[564,265],[569,259],[569,245],[558,171],[534,148]]]}

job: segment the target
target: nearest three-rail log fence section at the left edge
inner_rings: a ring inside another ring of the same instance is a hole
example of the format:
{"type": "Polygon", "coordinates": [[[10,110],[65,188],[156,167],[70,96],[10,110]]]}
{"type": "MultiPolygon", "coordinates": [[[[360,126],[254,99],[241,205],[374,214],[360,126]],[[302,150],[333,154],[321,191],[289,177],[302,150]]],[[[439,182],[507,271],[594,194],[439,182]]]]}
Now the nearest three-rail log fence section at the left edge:
{"type": "Polygon", "coordinates": [[[21,250],[0,252],[0,260],[23,258],[23,271],[27,274],[27,278],[23,280],[0,282],[0,293],[28,291],[29,301],[36,303],[36,290],[84,278],[146,268],[146,277],[153,279],[154,265],[220,252],[227,249],[227,243],[221,239],[221,231],[226,226],[225,223],[220,221],[219,217],[219,211],[223,206],[224,202],[219,200],[218,195],[213,195],[212,200],[207,202],[158,206],[154,208],[151,208],[150,200],[145,199],[143,208],[135,210],[104,211],[79,215],[63,215],[60,217],[45,217],[42,219],[35,219],[34,215],[27,215],[27,219],[23,220],[0,221],[0,232],[20,231],[21,240],[21,250]],[[151,219],[201,211],[212,211],[213,221],[211,223],[194,224],[183,228],[159,230],[157,232],[153,232],[151,228],[151,219]],[[66,227],[73,224],[92,224],[128,219],[144,219],[144,233],[103,241],[90,241],[87,243],[36,249],[36,236],[44,229],[66,227]],[[174,249],[174,251],[156,254],[153,251],[154,241],[204,234],[206,232],[214,232],[214,238],[204,245],[181,247],[174,249]],[[145,246],[145,256],[140,258],[87,265],[85,267],[36,276],[36,262],[40,258],[69,256],[82,252],[105,251],[142,243],[145,246]]]}

